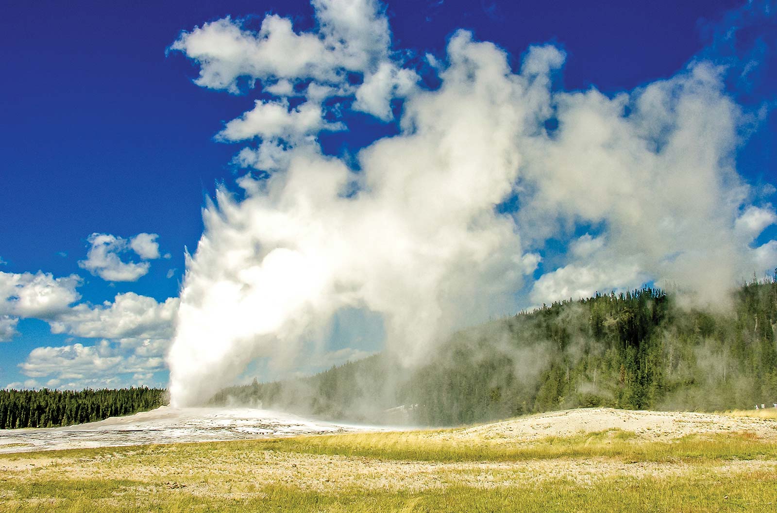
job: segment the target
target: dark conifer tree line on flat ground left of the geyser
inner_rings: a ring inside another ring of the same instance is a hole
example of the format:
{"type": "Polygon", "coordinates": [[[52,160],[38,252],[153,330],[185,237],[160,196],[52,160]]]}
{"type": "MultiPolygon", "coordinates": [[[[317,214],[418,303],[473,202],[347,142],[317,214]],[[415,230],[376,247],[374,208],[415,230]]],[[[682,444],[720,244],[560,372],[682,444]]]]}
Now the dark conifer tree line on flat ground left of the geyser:
{"type": "Polygon", "coordinates": [[[0,428],[52,428],[101,421],[162,406],[166,390],[0,390],[0,428]]]}

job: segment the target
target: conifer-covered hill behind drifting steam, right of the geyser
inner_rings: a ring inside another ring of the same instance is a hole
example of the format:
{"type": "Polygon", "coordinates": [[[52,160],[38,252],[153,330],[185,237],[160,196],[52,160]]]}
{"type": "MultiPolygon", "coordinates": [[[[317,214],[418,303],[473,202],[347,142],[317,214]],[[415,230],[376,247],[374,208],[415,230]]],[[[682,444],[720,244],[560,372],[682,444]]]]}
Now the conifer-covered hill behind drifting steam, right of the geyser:
{"type": "Polygon", "coordinates": [[[214,404],[458,425],[570,407],[715,411],[777,402],[777,284],[688,310],[657,289],[553,303],[455,334],[416,369],[386,355],[253,383],[214,404]],[[393,413],[385,410],[394,407],[393,413]]]}

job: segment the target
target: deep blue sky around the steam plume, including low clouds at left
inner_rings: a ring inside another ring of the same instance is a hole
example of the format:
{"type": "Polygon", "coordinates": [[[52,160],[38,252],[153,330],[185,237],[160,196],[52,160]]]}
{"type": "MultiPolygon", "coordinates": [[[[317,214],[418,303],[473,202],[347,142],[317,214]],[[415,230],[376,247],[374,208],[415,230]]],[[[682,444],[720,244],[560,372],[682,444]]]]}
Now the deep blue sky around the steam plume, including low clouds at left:
{"type": "MultiPolygon", "coordinates": [[[[775,58],[768,52],[777,33],[773,5],[772,14],[766,16],[751,12],[761,9],[759,5],[748,10],[742,2],[633,4],[636,2],[402,1],[386,2],[385,13],[392,49],[401,54],[392,59],[415,70],[420,83],[430,90],[441,79],[425,56],[444,58],[457,29],[472,31],[476,40],[496,43],[507,53],[514,71],[521,67],[530,45],[552,43],[566,54],[563,69],[552,75],[552,88],[566,92],[594,86],[613,97],[671,78],[694,59],[726,64],[726,95],[758,118],[740,127],[747,130],[747,137],[740,137],[736,149],[736,172],[756,192],[748,193],[737,209],[744,212],[748,206],[758,207],[763,209],[758,214],[768,218],[775,199],[765,185],[777,182],[773,150],[777,116],[772,109],[777,71],[775,58]],[[723,35],[731,26],[740,30],[734,40],[726,40],[723,35]],[[751,64],[758,65],[745,73],[751,64]]],[[[51,279],[80,276],[78,286],[70,287],[78,299],[74,296],[62,308],[82,304],[82,310],[89,309],[105,301],[113,303],[117,294],[126,293],[148,296],[157,304],[177,297],[185,267],[184,248],[197,248],[204,231],[200,212],[206,199],[214,197],[218,184],[239,190],[235,179],[246,174],[232,163],[246,144],[217,141],[214,136],[229,120],[252,109],[255,99],[266,98],[266,93],[259,88],[229,94],[198,87],[192,83],[199,73],[197,62],[187,58],[186,51],[168,49],[183,30],[225,16],[246,20],[247,28],[258,29],[267,12],[291,19],[295,31],[315,29],[311,5],[298,1],[6,5],[0,35],[5,64],[5,80],[0,83],[5,98],[0,106],[5,127],[0,142],[0,258],[4,262],[0,272],[40,271],[50,273],[51,279]],[[147,266],[148,272],[128,281],[106,279],[105,265],[88,263],[92,234],[118,237],[113,255],[124,265],[134,263],[143,270],[147,266]],[[142,239],[133,238],[138,234],[157,236],[149,239],[150,252],[132,248],[133,241],[142,239]]],[[[392,102],[392,107],[399,116],[402,100],[392,102]]],[[[319,135],[323,153],[353,155],[378,137],[400,130],[397,121],[383,123],[364,113],[343,116],[347,130],[319,135]]],[[[520,195],[516,197],[514,203],[521,203],[520,195]]],[[[515,291],[523,294],[516,302],[518,307],[529,307],[532,297],[540,297],[531,296],[532,280],[568,263],[573,241],[581,241],[578,246],[582,247],[587,239],[580,237],[590,234],[596,239],[609,226],[606,220],[577,215],[563,230],[531,236],[526,254],[541,260],[523,288],[515,291]]],[[[770,223],[747,244],[758,248],[775,236],[770,223]]],[[[568,269],[573,272],[580,265],[568,269]]],[[[634,280],[657,278],[640,270],[625,281],[602,286],[617,288],[632,285],[634,280]]],[[[0,297],[0,303],[8,301],[19,299],[12,298],[12,293],[0,297]]],[[[87,329],[76,321],[68,324],[61,317],[64,310],[36,316],[19,314],[18,305],[16,310],[6,308],[8,318],[18,321],[13,321],[16,334],[0,343],[0,385],[167,383],[160,356],[167,342],[157,344],[155,340],[167,340],[171,328],[154,323],[169,323],[172,310],[155,311],[157,317],[143,324],[145,328],[124,332],[100,331],[92,325],[87,329]],[[52,333],[51,324],[57,322],[59,332],[52,333]],[[110,334],[119,336],[111,338],[110,334]],[[77,344],[81,346],[75,348],[77,344]],[[138,349],[144,347],[148,350],[138,349]],[[30,353],[36,348],[43,350],[33,358],[30,353]],[[77,365],[72,364],[71,372],[58,370],[74,361],[77,365]]],[[[131,319],[137,321],[143,307],[134,304],[132,311],[131,319]]],[[[333,323],[338,324],[341,319],[333,323]]],[[[364,331],[372,333],[375,322],[364,325],[368,324],[372,328],[364,331]]],[[[350,334],[348,338],[364,337],[350,334]]],[[[379,347],[374,341],[362,340],[352,352],[343,352],[335,344],[326,353],[329,359],[318,362],[321,365],[300,367],[331,365],[379,347]]],[[[260,362],[251,369],[264,366],[260,362]]]]}

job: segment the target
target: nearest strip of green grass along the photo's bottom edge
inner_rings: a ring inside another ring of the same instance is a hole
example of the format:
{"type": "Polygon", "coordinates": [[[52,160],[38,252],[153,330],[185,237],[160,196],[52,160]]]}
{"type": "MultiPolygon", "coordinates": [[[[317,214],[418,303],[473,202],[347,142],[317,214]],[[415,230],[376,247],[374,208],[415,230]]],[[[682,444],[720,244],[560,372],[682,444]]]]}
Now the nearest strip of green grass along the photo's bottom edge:
{"type": "Polygon", "coordinates": [[[294,487],[263,487],[247,500],[196,497],[185,491],[137,492],[127,481],[68,480],[24,484],[14,488],[21,501],[7,501],[2,511],[775,511],[777,473],[743,473],[726,480],[704,476],[678,480],[608,479],[581,487],[568,480],[493,490],[449,487],[420,493],[364,491],[358,488],[319,493],[294,487]],[[30,502],[30,497],[39,501],[30,502]]]}

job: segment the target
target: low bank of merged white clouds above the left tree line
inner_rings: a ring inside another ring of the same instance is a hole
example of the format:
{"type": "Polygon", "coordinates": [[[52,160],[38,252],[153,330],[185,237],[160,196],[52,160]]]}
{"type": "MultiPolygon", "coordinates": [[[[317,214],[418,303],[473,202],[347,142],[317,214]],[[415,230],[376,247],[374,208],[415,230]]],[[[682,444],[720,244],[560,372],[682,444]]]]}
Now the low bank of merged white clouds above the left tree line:
{"type": "MultiPolygon", "coordinates": [[[[20,317],[47,321],[54,334],[103,339],[96,345],[35,348],[19,366],[21,372],[31,378],[50,378],[47,386],[83,388],[138,384],[131,380],[131,373],[145,375],[163,369],[178,298],[157,302],[123,293],[112,303],[74,305],[80,299],[75,290],[80,284],[76,275],[54,278],[44,272],[0,272],[0,341],[16,335],[20,317]]],[[[9,384],[37,386],[40,383],[35,380],[9,384]]]]}

